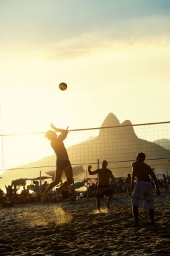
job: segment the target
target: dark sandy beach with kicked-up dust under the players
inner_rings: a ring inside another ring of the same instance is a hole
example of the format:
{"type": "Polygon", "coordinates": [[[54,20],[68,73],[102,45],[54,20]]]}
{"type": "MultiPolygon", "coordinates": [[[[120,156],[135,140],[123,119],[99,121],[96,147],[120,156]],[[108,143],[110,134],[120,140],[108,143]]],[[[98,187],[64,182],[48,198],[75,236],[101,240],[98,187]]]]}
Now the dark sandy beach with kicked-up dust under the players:
{"type": "Polygon", "coordinates": [[[110,212],[95,198],[1,207],[0,255],[169,255],[170,194],[155,195],[155,226],[140,210],[134,227],[131,199],[114,195],[110,212]]]}

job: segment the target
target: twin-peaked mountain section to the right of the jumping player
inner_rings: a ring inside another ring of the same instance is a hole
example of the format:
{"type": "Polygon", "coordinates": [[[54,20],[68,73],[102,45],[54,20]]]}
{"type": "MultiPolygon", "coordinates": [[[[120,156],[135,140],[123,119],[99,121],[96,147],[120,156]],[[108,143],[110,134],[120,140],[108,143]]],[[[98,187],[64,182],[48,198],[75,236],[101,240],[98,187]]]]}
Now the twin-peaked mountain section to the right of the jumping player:
{"type": "MultiPolygon", "coordinates": [[[[138,138],[130,121],[120,123],[112,113],[103,121],[97,137],[67,150],[70,155],[74,152],[71,157],[74,164],[97,163],[97,159],[99,162],[103,159],[108,160],[108,168],[112,168],[116,175],[120,174],[118,176],[125,175],[131,170],[131,162],[135,160],[138,152],[144,152],[148,164],[157,168],[158,172],[163,170],[163,165],[168,162],[167,158],[170,158],[169,150],[138,138]]],[[[97,164],[94,168],[96,167],[97,164]]]]}

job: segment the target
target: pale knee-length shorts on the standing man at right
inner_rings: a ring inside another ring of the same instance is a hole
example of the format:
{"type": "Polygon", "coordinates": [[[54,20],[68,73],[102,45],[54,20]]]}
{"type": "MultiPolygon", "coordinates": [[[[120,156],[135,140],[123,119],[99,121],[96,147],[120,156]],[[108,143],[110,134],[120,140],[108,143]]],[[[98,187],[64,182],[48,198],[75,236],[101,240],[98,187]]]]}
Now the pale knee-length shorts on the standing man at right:
{"type": "Polygon", "coordinates": [[[152,183],[148,181],[138,181],[132,193],[132,205],[142,206],[153,209],[153,187],[152,183]]]}

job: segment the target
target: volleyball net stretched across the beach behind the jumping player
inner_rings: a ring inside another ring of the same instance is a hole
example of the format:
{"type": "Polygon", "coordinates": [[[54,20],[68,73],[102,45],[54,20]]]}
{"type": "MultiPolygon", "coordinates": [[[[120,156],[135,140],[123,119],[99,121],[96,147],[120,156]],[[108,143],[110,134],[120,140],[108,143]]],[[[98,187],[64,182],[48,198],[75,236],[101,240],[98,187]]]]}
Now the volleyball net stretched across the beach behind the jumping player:
{"type": "MultiPolygon", "coordinates": [[[[0,169],[54,170],[56,156],[44,132],[1,134],[0,169]]],[[[170,173],[170,121],[146,124],[122,124],[69,130],[65,139],[72,166],[108,168],[124,175],[138,152],[146,154],[146,163],[157,173],[170,173]]],[[[120,175],[118,175],[120,176],[120,175]]]]}

